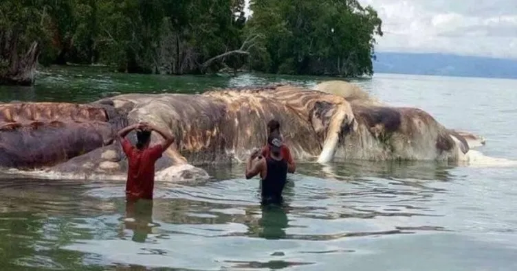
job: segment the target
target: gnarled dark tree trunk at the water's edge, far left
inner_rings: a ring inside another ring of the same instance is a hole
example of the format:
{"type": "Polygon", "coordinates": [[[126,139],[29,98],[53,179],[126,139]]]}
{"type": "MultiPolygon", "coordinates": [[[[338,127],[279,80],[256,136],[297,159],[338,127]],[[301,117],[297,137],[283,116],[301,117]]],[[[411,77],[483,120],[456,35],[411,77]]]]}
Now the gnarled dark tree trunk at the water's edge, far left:
{"type": "Polygon", "coordinates": [[[32,86],[36,75],[36,65],[41,53],[38,43],[34,41],[23,56],[18,55],[18,38],[16,35],[10,38],[9,43],[10,46],[6,51],[8,54],[0,54],[0,84],[32,86]],[[3,59],[1,56],[4,56],[3,59]]]}

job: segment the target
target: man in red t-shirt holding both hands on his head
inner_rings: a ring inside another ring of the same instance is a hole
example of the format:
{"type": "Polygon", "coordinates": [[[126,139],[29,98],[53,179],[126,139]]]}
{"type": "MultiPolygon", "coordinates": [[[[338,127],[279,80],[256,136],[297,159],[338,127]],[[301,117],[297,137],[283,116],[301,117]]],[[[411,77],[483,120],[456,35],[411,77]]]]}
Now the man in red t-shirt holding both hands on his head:
{"type": "Polygon", "coordinates": [[[162,153],[174,142],[174,137],[148,123],[138,123],[128,126],[118,132],[122,150],[128,159],[129,168],[126,181],[126,198],[137,200],[144,198],[153,199],[155,185],[155,162],[162,157],[162,153]],[[136,131],[136,146],[131,145],[126,135],[131,130],[136,131]],[[149,148],[151,143],[151,131],[155,131],[164,137],[164,141],[149,148]]]}

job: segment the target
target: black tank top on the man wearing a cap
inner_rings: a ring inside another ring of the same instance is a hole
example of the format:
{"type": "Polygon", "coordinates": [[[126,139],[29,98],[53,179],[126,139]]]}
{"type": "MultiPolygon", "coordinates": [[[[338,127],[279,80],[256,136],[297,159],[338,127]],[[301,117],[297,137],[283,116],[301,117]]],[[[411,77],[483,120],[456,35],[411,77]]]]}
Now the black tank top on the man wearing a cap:
{"type": "Polygon", "coordinates": [[[275,160],[273,158],[265,158],[267,165],[267,174],[261,180],[262,187],[262,204],[281,204],[282,191],[287,179],[287,161],[275,160]]]}

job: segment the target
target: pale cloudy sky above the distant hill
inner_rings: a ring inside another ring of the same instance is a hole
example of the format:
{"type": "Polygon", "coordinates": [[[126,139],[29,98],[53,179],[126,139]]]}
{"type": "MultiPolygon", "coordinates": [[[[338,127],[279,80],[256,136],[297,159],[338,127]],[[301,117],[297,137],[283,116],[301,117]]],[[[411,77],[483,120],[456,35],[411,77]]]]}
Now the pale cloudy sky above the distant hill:
{"type": "Polygon", "coordinates": [[[517,0],[358,0],[382,19],[375,51],[517,58],[517,0]]]}

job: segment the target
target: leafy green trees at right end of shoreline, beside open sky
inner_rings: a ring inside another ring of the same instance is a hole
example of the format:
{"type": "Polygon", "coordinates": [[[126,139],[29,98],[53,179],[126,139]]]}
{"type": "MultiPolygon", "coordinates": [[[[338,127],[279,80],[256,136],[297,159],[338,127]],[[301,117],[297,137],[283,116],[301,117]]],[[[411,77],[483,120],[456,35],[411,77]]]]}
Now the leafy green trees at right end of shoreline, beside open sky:
{"type": "Polygon", "coordinates": [[[373,73],[377,12],[355,0],[255,0],[248,32],[262,34],[254,67],[272,73],[360,76],[373,73]],[[263,56],[267,54],[267,56],[263,56]]]}

